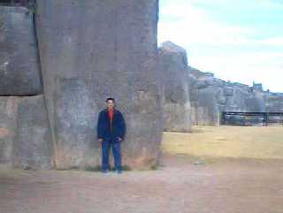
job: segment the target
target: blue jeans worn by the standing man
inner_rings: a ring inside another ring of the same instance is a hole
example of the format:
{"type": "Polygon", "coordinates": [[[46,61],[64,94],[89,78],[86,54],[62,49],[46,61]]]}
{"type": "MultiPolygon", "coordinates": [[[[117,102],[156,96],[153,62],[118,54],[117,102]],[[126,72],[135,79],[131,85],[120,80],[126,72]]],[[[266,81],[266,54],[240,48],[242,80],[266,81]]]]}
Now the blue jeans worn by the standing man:
{"type": "Polygon", "coordinates": [[[112,153],[114,156],[115,170],[121,170],[121,145],[119,141],[103,141],[102,144],[102,167],[103,171],[110,170],[109,164],[109,151],[112,147],[112,153]]]}

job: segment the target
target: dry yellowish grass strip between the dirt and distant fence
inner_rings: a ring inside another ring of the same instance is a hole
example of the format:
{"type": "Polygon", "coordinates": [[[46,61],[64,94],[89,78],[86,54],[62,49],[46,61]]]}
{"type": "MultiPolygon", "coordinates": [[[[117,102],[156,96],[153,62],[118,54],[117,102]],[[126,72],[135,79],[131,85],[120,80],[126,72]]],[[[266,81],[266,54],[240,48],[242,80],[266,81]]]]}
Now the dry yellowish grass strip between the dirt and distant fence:
{"type": "Polygon", "coordinates": [[[170,155],[283,159],[282,126],[195,126],[195,133],[164,133],[170,155]]]}

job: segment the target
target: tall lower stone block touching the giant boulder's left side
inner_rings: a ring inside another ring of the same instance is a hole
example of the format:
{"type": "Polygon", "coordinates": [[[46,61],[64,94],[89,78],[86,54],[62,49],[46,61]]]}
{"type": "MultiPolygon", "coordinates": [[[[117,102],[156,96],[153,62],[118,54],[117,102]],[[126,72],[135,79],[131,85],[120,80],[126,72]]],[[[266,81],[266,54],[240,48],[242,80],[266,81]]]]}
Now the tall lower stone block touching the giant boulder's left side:
{"type": "Polygon", "coordinates": [[[53,144],[42,95],[20,97],[13,165],[23,169],[50,169],[53,144]]]}

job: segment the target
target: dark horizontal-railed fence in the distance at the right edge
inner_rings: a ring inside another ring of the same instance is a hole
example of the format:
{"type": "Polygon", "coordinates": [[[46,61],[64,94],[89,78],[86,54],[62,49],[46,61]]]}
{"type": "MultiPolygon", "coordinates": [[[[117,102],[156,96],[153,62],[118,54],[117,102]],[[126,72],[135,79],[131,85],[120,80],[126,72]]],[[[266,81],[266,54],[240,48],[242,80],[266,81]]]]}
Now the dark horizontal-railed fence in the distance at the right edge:
{"type": "Polygon", "coordinates": [[[283,125],[283,112],[223,111],[220,122],[234,126],[283,125]]]}

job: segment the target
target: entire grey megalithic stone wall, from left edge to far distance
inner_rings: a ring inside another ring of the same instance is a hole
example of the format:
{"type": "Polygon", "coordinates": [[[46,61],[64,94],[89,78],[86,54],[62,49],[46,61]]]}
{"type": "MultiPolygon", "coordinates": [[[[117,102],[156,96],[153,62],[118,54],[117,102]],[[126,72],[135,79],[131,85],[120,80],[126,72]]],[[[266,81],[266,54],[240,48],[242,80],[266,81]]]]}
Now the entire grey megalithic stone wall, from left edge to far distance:
{"type": "Polygon", "coordinates": [[[108,96],[126,118],[123,163],[137,169],[157,163],[163,111],[165,130],[178,132],[218,125],[223,110],[283,112],[283,95],[261,84],[192,67],[187,76],[180,47],[167,43],[158,60],[157,0],[37,4],[36,26],[27,9],[0,6],[0,168],[100,165],[96,122],[108,96]]]}

